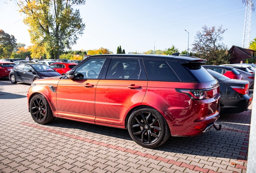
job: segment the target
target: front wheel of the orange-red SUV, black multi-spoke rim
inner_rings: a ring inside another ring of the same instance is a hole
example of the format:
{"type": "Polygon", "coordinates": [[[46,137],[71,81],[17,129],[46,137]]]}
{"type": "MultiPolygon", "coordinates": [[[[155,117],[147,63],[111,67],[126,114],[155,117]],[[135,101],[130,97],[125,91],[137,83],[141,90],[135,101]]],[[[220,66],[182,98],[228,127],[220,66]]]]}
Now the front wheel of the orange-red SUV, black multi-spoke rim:
{"type": "Polygon", "coordinates": [[[50,123],[55,119],[49,103],[41,94],[36,94],[31,98],[29,111],[33,120],[38,124],[50,123]]]}

